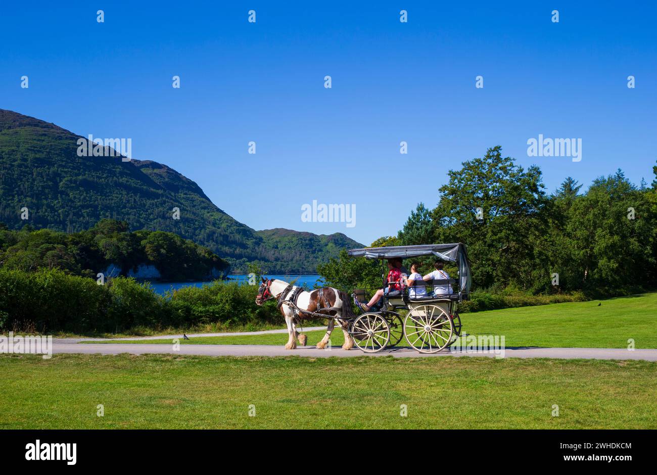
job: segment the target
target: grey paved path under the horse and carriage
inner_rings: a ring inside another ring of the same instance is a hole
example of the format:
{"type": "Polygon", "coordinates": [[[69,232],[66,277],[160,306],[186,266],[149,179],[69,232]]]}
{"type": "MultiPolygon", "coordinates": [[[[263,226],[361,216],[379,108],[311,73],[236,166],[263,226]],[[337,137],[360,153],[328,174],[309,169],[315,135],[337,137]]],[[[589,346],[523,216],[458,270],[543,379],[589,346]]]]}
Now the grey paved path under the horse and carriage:
{"type": "MultiPolygon", "coordinates": [[[[168,337],[160,337],[168,338],[168,337]]],[[[172,337],[173,338],[173,337],[172,337]]],[[[487,356],[492,353],[451,353],[443,351],[432,355],[418,353],[411,348],[396,348],[379,353],[363,353],[360,350],[345,351],[342,348],[317,350],[314,346],[300,346],[296,350],[285,350],[279,345],[180,345],[180,350],[174,351],[172,345],[162,344],[78,344],[66,340],[53,340],[53,353],[101,353],[116,355],[131,353],[170,353],[175,355],[208,355],[208,356],[307,356],[307,357],[355,357],[363,355],[394,356],[394,357],[436,357],[436,356],[487,356]]],[[[643,359],[657,361],[657,350],[628,351],[622,348],[506,348],[505,357],[509,358],[560,358],[560,359],[643,359]]]]}

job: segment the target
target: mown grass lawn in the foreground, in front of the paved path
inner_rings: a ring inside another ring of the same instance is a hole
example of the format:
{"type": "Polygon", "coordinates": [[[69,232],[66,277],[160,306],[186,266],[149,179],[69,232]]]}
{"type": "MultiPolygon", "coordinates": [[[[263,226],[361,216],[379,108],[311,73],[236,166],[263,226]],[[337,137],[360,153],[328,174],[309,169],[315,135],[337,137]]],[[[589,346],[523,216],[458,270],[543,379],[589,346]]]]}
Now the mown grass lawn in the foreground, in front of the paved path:
{"type": "Polygon", "coordinates": [[[0,428],[657,428],[646,361],[0,355],[0,374],[0,428]]]}

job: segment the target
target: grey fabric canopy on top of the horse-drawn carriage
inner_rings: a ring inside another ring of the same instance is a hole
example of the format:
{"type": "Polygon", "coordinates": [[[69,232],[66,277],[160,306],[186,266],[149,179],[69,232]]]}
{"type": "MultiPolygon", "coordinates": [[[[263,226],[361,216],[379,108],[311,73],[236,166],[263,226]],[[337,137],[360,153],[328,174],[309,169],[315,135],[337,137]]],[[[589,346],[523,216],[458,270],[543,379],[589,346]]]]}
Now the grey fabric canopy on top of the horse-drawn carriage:
{"type": "Polygon", "coordinates": [[[440,260],[455,262],[459,266],[459,288],[464,295],[470,294],[470,263],[465,244],[420,244],[418,246],[385,246],[381,248],[351,249],[347,253],[352,257],[364,257],[367,259],[390,259],[390,258],[417,258],[421,256],[436,256],[440,260]]]}

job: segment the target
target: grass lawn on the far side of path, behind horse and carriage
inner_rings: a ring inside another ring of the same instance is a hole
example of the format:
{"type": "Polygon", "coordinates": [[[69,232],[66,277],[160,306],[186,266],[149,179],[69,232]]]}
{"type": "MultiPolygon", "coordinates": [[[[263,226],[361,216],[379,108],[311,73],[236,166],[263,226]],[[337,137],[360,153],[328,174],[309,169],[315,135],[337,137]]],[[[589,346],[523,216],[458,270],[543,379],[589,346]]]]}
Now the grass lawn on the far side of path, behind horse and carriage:
{"type": "MultiPolygon", "coordinates": [[[[507,347],[627,348],[627,340],[633,338],[635,348],[657,348],[657,293],[466,313],[461,320],[467,334],[504,335],[507,347]]],[[[307,335],[308,344],[316,344],[324,332],[307,335]]],[[[284,345],[286,341],[287,334],[264,334],[197,337],[181,344],[284,345]]],[[[171,344],[171,339],[112,342],[171,344]]],[[[342,331],[336,328],[331,344],[343,342],[342,331]]]]}

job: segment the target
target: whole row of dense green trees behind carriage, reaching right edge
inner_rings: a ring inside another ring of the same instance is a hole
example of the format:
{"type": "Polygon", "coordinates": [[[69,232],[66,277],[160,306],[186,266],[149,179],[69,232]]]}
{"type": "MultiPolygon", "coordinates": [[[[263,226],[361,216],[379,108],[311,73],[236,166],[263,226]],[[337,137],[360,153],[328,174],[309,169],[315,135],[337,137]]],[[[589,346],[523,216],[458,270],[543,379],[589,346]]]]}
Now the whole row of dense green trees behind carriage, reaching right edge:
{"type": "MultiPolygon", "coordinates": [[[[584,193],[567,177],[547,195],[539,168],[524,170],[500,147],[462,165],[449,171],[434,210],[420,203],[396,238],[373,246],[464,242],[479,290],[610,296],[657,286],[657,166],[650,189],[618,170],[584,193]]],[[[346,253],[319,269],[345,290],[380,279],[346,253]]]]}

